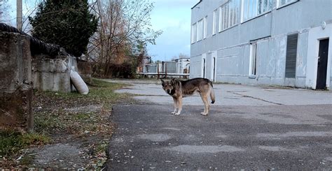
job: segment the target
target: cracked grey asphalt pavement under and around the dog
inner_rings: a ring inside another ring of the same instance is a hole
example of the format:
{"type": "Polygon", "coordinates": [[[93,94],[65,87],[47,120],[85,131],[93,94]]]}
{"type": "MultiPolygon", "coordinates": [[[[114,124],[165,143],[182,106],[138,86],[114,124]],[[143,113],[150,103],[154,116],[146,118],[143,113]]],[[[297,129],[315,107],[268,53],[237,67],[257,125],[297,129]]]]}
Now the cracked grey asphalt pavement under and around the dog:
{"type": "Polygon", "coordinates": [[[144,92],[135,97],[141,105],[113,107],[118,130],[107,170],[332,169],[331,92],[216,84],[226,105],[212,105],[205,117],[194,96],[174,116],[159,84],[130,83],[120,92],[144,92]]]}

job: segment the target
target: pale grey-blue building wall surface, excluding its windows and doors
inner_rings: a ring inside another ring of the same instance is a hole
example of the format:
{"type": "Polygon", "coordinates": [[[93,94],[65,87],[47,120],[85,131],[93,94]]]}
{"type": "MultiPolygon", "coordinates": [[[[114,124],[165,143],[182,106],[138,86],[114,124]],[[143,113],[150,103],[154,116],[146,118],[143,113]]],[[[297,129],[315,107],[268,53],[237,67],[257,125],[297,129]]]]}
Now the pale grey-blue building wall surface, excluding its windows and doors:
{"type": "MultiPolygon", "coordinates": [[[[239,22],[219,32],[219,6],[227,0],[205,0],[192,9],[191,23],[207,16],[207,38],[191,44],[191,78],[202,77],[202,57],[207,57],[207,74],[213,80],[212,52],[216,52],[216,82],[276,84],[315,89],[318,45],[330,38],[327,86],[331,84],[332,1],[300,0],[282,8],[276,2],[270,12],[239,22]],[[213,11],[216,34],[212,35],[213,11]],[[310,11],[310,13],[308,13],[310,11]],[[326,28],[321,29],[321,22],[326,28]],[[285,78],[287,36],[298,34],[296,78],[285,78]],[[249,77],[250,43],[257,43],[256,77],[249,77]]],[[[240,20],[240,16],[238,16],[240,20]]]]}

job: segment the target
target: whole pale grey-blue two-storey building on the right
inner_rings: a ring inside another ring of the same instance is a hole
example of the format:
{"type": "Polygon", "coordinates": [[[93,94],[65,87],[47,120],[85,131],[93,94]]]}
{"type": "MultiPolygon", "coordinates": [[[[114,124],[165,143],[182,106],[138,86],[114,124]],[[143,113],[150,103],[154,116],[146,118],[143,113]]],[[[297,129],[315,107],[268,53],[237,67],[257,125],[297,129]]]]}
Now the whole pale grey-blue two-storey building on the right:
{"type": "Polygon", "coordinates": [[[329,88],[331,37],[330,0],[201,0],[191,10],[190,76],[329,88]]]}

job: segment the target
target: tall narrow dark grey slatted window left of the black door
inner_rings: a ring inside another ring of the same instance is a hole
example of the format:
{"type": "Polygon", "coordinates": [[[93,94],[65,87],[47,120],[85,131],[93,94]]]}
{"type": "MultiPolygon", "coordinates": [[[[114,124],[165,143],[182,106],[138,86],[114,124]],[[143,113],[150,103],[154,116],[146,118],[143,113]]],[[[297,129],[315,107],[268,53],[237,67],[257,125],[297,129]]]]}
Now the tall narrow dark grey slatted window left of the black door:
{"type": "Polygon", "coordinates": [[[298,51],[298,34],[291,34],[287,36],[285,77],[295,78],[296,76],[297,51],[298,51]]]}

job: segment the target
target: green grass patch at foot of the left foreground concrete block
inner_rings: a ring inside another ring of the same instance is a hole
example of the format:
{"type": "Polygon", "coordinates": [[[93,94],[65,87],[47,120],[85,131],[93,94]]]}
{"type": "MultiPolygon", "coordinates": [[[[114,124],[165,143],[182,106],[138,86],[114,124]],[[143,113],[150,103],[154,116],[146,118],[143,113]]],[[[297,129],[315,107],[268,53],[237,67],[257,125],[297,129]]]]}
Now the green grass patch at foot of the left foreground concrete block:
{"type": "Polygon", "coordinates": [[[0,132],[0,156],[17,154],[32,144],[46,144],[50,137],[39,133],[19,133],[16,131],[0,132]]]}

